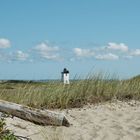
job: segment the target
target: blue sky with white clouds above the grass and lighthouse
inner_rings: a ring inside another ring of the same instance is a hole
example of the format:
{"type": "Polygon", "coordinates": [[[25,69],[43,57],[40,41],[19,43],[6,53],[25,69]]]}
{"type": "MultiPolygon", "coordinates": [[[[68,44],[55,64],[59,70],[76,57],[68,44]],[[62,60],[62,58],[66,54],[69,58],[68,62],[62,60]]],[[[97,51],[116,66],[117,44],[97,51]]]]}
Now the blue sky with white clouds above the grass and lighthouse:
{"type": "Polygon", "coordinates": [[[0,0],[0,79],[140,74],[139,0],[0,0]]]}

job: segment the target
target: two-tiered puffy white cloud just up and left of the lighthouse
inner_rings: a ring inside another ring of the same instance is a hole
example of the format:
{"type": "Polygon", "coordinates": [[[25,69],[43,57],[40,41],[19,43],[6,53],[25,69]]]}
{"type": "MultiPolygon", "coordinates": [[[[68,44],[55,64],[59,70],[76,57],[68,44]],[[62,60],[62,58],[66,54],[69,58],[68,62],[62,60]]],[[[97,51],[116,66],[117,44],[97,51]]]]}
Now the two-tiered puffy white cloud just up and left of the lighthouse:
{"type": "Polygon", "coordinates": [[[50,46],[47,43],[41,43],[35,47],[35,51],[45,59],[49,60],[60,60],[60,56],[58,54],[59,47],[50,46]]]}

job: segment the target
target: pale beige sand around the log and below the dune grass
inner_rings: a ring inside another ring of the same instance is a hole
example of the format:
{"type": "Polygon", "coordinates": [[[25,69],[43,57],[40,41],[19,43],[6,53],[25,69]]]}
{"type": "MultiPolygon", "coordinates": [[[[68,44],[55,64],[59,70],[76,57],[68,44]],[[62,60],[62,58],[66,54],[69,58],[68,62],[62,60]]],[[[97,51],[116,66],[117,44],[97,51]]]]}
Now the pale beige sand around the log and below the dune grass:
{"type": "Polygon", "coordinates": [[[31,140],[140,140],[140,102],[113,101],[83,108],[55,110],[70,127],[39,126],[7,118],[7,127],[31,140]]]}

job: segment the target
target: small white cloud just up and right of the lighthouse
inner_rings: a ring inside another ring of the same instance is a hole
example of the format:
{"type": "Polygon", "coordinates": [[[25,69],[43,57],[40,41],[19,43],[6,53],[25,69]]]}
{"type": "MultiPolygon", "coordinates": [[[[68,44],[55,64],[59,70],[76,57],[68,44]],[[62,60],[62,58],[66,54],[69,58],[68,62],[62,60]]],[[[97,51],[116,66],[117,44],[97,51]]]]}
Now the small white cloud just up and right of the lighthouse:
{"type": "Polygon", "coordinates": [[[91,49],[74,48],[73,51],[77,57],[91,57],[95,55],[91,49]]]}

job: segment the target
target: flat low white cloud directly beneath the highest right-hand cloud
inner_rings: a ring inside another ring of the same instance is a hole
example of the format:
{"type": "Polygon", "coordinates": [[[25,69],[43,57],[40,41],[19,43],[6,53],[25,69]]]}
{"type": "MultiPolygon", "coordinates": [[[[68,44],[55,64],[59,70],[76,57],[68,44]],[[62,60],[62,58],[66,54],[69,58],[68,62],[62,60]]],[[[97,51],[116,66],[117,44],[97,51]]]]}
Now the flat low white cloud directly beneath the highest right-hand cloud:
{"type": "Polygon", "coordinates": [[[108,53],[108,54],[103,54],[103,55],[97,55],[95,56],[95,58],[99,60],[118,60],[119,56],[112,53],[108,53]]]}

